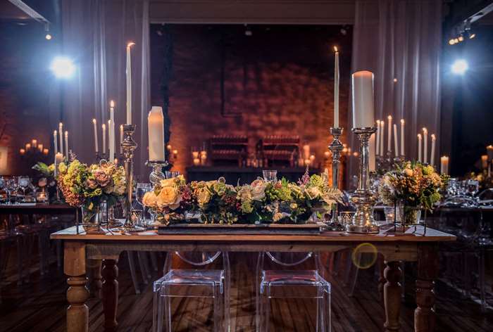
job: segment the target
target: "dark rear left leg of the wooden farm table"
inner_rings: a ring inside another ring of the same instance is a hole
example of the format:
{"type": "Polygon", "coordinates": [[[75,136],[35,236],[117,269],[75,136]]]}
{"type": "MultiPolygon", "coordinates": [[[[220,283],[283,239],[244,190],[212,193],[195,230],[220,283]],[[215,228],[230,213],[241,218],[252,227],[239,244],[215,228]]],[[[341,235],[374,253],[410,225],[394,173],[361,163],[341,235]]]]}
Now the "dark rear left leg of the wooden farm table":
{"type": "Polygon", "coordinates": [[[116,312],[118,309],[118,267],[116,260],[103,260],[103,310],[104,310],[104,331],[116,331],[118,323],[116,312]]]}

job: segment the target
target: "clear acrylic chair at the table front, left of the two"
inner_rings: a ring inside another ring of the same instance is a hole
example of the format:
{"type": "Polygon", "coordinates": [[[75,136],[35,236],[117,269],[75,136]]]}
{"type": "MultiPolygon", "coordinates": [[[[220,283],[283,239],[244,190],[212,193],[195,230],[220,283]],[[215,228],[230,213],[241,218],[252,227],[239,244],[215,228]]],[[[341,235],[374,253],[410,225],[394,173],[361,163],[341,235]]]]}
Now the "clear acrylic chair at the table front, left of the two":
{"type": "Polygon", "coordinates": [[[172,298],[211,298],[213,331],[230,329],[230,261],[227,252],[168,253],[164,276],[154,281],[153,331],[171,332],[172,298]],[[223,269],[172,269],[173,255],[192,267],[204,267],[223,256],[223,269]],[[163,317],[164,325],[163,325],[163,317]],[[222,324],[223,321],[223,324],[222,324]]]}

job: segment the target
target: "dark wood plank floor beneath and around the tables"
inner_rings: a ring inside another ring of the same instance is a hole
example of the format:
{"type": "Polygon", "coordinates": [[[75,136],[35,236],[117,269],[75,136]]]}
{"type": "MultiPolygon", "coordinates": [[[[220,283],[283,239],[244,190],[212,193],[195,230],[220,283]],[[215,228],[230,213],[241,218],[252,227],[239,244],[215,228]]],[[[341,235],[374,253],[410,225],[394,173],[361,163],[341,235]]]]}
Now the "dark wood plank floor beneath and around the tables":
{"type": "MultiPolygon", "coordinates": [[[[232,262],[232,331],[254,331],[254,255],[235,253],[232,262]]],[[[65,277],[51,265],[49,276],[39,277],[33,269],[30,283],[17,286],[15,266],[10,264],[1,288],[0,331],[65,331],[65,277]]],[[[412,265],[409,266],[412,269],[412,265]]],[[[152,289],[142,285],[135,295],[127,258],[119,264],[120,302],[118,303],[118,331],[151,331],[152,289]]],[[[154,279],[158,272],[154,272],[154,279]]],[[[356,291],[349,297],[348,288],[335,277],[332,282],[332,331],[382,331],[383,308],[377,292],[373,269],[362,271],[356,291]]],[[[413,283],[406,282],[406,298],[401,307],[401,331],[412,331],[413,283]]],[[[492,331],[493,310],[486,313],[471,300],[466,300],[444,283],[437,285],[437,331],[492,331]]],[[[89,305],[89,331],[103,331],[101,302],[92,298],[89,305]]],[[[272,303],[271,331],[315,331],[314,303],[308,300],[275,300],[272,303]]],[[[173,301],[173,331],[211,331],[211,303],[206,300],[173,301]]]]}

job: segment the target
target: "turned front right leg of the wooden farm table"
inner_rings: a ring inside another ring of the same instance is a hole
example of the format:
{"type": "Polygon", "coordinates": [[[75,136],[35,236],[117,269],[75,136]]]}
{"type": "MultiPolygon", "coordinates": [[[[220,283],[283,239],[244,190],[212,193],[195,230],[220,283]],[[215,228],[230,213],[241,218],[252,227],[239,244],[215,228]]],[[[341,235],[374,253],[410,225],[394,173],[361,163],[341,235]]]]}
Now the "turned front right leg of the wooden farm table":
{"type": "Polygon", "coordinates": [[[418,246],[418,280],[416,280],[416,305],[414,311],[414,331],[431,332],[435,330],[435,279],[438,276],[438,246],[420,244],[418,246]]]}

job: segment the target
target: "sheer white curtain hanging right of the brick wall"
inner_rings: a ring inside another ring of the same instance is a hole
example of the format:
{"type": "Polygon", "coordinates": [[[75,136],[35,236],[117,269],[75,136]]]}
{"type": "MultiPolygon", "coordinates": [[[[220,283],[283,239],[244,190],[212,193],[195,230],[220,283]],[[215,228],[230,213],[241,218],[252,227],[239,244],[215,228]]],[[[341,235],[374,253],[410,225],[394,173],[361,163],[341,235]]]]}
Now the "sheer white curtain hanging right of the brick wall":
{"type": "MultiPolygon", "coordinates": [[[[423,127],[439,138],[442,1],[360,0],[355,14],[352,72],[374,72],[375,120],[404,119],[406,157],[416,159],[416,136],[423,127]]],[[[359,146],[355,138],[352,143],[359,146]]],[[[438,155],[437,146],[435,164],[438,155]]]]}

